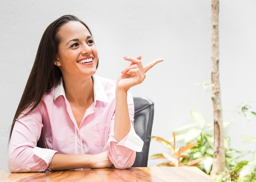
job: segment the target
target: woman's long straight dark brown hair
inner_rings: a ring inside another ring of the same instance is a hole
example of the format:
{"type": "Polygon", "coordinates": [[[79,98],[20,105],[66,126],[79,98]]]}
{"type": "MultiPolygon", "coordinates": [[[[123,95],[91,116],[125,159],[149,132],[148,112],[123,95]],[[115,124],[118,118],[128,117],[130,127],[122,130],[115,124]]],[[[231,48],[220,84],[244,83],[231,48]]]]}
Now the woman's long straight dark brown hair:
{"type": "Polygon", "coordinates": [[[9,141],[11,139],[11,133],[13,131],[15,121],[21,113],[25,110],[28,110],[25,115],[32,112],[40,103],[45,92],[50,91],[61,79],[61,70],[58,66],[54,65],[54,61],[56,61],[56,55],[58,53],[58,44],[61,39],[58,36],[58,31],[61,26],[70,21],[80,22],[92,35],[88,26],[74,15],[64,15],[49,24],[41,38],[34,65],[20,99],[16,114],[13,118],[9,141]]]}

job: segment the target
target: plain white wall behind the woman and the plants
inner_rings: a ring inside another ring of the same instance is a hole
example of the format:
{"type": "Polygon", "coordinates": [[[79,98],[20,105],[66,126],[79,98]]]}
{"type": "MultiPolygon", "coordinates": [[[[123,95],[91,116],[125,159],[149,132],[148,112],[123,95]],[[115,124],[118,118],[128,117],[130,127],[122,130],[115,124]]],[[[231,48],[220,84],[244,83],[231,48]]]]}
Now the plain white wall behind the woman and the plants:
{"type": "MultiPolygon", "coordinates": [[[[97,75],[116,79],[128,63],[123,56],[142,55],[144,64],[164,62],[147,73],[134,96],[155,103],[152,135],[171,138],[177,127],[192,123],[191,110],[212,122],[211,92],[196,83],[211,79],[210,0],[0,0],[0,169],[7,169],[11,122],[46,27],[74,14],[92,30],[100,62],[97,75]]],[[[256,1],[220,0],[220,83],[225,121],[243,101],[256,110],[256,1]]],[[[231,121],[227,135],[236,149],[242,134],[256,137],[256,119],[231,121]]],[[[152,141],[150,155],[166,150],[152,141]]],[[[157,161],[149,161],[153,166],[157,161]]]]}

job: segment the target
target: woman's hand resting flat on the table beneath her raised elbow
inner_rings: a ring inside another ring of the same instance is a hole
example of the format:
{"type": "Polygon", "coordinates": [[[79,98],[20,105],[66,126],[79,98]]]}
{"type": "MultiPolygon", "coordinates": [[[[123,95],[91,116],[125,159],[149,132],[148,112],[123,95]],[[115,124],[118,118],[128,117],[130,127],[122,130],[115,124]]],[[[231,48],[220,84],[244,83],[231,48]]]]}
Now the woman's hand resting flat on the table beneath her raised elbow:
{"type": "Polygon", "coordinates": [[[112,162],[108,158],[108,151],[91,155],[91,168],[111,168],[112,162]]]}

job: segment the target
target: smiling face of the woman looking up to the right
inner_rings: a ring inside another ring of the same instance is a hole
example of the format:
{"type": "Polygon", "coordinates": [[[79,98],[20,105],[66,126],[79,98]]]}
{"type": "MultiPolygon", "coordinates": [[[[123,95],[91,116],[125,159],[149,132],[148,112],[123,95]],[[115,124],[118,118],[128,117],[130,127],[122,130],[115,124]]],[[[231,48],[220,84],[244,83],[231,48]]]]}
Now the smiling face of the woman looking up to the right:
{"type": "Polygon", "coordinates": [[[63,78],[85,78],[96,72],[98,54],[92,35],[77,21],[70,21],[58,31],[60,43],[56,55],[63,78]]]}

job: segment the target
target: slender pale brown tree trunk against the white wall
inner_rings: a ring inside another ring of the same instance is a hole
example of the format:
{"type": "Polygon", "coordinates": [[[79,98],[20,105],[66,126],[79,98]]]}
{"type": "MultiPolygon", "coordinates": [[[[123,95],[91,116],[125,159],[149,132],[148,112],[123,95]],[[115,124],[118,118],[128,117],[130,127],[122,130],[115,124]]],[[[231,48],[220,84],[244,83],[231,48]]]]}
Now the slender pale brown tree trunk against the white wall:
{"type": "Polygon", "coordinates": [[[212,24],[212,47],[211,47],[211,83],[212,83],[212,101],[213,101],[213,120],[214,120],[214,153],[213,167],[211,176],[225,171],[225,148],[222,106],[220,97],[219,80],[219,0],[211,1],[211,24],[212,24]]]}

